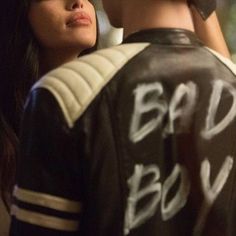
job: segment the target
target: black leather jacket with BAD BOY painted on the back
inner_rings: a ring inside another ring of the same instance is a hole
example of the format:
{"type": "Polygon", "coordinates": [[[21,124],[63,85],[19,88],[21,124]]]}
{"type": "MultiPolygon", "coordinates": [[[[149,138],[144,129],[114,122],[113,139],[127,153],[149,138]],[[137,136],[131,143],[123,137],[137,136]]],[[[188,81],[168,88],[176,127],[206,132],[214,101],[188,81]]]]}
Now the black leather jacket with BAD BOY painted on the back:
{"type": "Polygon", "coordinates": [[[236,235],[235,72],[182,29],[50,72],[25,108],[11,235],[236,235]]]}

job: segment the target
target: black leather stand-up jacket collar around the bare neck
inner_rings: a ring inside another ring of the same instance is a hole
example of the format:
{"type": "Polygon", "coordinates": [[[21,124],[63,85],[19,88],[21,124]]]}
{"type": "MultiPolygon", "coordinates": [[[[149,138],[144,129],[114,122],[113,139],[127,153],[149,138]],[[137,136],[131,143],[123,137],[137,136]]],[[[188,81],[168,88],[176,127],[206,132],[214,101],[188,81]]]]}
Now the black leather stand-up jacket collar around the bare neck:
{"type": "Polygon", "coordinates": [[[177,28],[157,28],[135,32],[124,39],[123,43],[149,42],[167,45],[202,45],[192,31],[177,28]]]}

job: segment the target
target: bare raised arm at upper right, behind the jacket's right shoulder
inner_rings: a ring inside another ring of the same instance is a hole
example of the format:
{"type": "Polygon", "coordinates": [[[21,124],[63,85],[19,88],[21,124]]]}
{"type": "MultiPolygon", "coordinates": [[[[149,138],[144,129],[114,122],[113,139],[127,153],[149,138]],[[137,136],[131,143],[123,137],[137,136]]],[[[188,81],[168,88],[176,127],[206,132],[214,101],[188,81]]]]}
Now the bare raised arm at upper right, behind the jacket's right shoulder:
{"type": "Polygon", "coordinates": [[[211,16],[204,21],[194,7],[191,7],[191,11],[195,32],[198,37],[207,47],[230,58],[230,52],[226,45],[216,13],[212,13],[211,16]]]}

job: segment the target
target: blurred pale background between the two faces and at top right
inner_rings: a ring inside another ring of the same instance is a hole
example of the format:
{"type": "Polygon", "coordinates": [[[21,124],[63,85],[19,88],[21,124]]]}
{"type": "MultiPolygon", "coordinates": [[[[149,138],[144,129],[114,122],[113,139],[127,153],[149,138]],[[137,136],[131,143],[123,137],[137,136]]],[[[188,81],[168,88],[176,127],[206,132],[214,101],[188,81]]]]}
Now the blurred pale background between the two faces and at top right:
{"type": "MultiPolygon", "coordinates": [[[[100,28],[99,47],[104,48],[119,44],[122,41],[122,29],[114,29],[110,26],[103,11],[101,0],[94,0],[94,3],[100,28]]],[[[222,30],[233,55],[233,60],[236,62],[236,0],[217,0],[217,3],[222,30]]]]}

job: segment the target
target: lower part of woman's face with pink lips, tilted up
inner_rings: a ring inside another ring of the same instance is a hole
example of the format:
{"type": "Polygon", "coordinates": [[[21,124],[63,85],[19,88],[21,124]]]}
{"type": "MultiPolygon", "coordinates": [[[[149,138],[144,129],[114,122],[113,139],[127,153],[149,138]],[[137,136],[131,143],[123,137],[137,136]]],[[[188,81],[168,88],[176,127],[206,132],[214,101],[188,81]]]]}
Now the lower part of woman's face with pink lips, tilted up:
{"type": "Polygon", "coordinates": [[[33,0],[29,21],[44,49],[80,52],[96,42],[95,10],[89,0],[33,0]]]}

